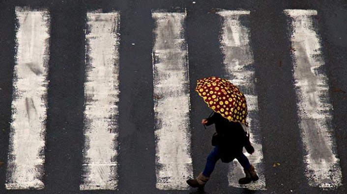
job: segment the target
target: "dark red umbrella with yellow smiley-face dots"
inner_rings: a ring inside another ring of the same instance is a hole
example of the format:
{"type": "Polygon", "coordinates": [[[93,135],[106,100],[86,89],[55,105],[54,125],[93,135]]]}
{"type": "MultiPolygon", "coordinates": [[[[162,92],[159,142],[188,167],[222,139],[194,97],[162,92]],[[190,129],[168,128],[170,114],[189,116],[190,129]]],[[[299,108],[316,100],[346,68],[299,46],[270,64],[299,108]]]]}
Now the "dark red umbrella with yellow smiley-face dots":
{"type": "Polygon", "coordinates": [[[229,121],[247,124],[246,97],[228,80],[207,77],[198,80],[195,89],[208,107],[229,121]]]}

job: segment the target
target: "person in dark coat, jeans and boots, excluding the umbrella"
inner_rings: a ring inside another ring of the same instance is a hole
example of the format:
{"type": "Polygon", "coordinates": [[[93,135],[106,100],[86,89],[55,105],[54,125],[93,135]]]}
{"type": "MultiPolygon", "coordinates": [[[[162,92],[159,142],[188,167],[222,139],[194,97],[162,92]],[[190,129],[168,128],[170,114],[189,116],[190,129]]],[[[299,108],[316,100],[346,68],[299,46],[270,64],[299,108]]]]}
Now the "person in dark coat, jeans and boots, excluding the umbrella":
{"type": "Polygon", "coordinates": [[[229,121],[218,113],[213,113],[212,117],[203,119],[202,124],[207,126],[215,124],[216,133],[212,138],[212,145],[215,147],[207,157],[203,172],[196,179],[187,180],[188,185],[203,188],[219,159],[224,163],[229,163],[235,158],[241,164],[246,174],[246,177],[239,179],[239,183],[248,184],[251,181],[257,181],[259,177],[254,167],[242,152],[243,146],[250,154],[254,152],[254,148],[249,142],[249,138],[241,124],[229,121]]]}

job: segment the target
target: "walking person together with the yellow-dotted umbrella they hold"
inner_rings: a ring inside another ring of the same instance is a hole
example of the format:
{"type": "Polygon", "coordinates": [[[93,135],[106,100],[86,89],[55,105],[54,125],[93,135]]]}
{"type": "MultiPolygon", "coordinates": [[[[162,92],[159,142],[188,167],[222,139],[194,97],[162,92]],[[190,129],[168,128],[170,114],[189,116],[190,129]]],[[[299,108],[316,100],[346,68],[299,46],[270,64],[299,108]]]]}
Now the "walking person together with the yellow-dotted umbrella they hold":
{"type": "Polygon", "coordinates": [[[247,125],[247,103],[244,94],[229,80],[216,76],[198,79],[195,91],[213,110],[213,115],[202,119],[202,124],[215,124],[216,133],[212,137],[212,145],[215,147],[207,156],[205,169],[195,179],[188,179],[187,184],[203,189],[219,159],[224,163],[237,159],[246,175],[239,179],[239,184],[257,181],[259,177],[254,166],[242,152],[243,147],[250,154],[254,152],[249,136],[247,137],[241,125],[247,125]]]}

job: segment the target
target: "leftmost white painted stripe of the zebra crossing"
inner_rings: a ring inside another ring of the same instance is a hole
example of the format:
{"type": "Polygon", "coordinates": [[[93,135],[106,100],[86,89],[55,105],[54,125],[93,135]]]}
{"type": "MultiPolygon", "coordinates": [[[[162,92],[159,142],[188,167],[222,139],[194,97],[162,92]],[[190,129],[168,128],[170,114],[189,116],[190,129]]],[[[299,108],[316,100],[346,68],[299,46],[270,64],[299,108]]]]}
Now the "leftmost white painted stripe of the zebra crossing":
{"type": "Polygon", "coordinates": [[[50,16],[16,7],[17,55],[6,189],[43,189],[50,16]]]}

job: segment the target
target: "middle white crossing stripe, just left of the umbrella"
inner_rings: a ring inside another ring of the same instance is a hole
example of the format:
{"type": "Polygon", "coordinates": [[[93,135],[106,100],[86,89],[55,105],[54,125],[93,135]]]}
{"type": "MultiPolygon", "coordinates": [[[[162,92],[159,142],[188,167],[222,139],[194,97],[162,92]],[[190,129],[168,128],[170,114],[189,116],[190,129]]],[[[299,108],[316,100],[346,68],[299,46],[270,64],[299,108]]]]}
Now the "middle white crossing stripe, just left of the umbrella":
{"type": "Polygon", "coordinates": [[[156,26],[153,86],[156,139],[156,187],[187,190],[193,176],[189,131],[188,49],[183,24],[186,13],[152,13],[156,26]]]}

